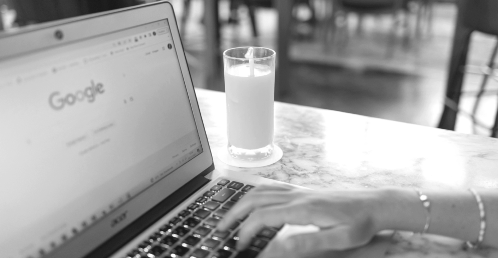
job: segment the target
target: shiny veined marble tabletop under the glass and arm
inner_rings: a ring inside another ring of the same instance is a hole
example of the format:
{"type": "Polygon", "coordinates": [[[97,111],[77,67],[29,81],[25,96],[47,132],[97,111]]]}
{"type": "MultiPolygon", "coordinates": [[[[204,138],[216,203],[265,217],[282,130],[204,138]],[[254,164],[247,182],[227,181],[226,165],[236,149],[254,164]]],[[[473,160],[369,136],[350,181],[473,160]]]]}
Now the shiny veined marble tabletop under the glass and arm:
{"type": "MultiPolygon", "coordinates": [[[[196,89],[215,167],[314,189],[400,186],[498,188],[498,140],[313,107],[275,102],[274,143],[283,158],[243,169],[222,163],[227,146],[225,93],[196,89]]],[[[397,233],[389,258],[498,258],[463,251],[461,241],[397,233]]]]}

